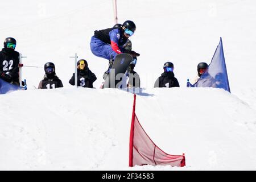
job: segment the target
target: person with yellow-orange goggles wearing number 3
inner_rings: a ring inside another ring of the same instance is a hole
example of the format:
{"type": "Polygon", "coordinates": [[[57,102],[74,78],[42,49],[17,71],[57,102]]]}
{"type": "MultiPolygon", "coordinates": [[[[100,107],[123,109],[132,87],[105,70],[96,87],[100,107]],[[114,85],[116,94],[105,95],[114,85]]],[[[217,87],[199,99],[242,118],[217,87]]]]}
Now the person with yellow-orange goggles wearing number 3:
{"type": "MultiPolygon", "coordinates": [[[[87,61],[84,59],[77,61],[77,85],[86,88],[93,88],[93,82],[96,80],[97,77],[88,68],[87,61]]],[[[73,76],[69,80],[69,84],[75,85],[75,73],[73,73],[73,76]]]]}

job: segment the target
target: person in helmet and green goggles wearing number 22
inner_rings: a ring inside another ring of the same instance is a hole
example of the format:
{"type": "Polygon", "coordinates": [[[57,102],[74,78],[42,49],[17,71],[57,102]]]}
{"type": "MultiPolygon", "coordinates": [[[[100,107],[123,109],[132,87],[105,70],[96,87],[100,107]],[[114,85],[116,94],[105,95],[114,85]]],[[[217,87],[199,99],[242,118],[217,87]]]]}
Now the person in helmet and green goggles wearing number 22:
{"type": "Polygon", "coordinates": [[[19,52],[14,51],[16,40],[6,38],[0,51],[0,78],[10,84],[19,85],[19,52]]]}

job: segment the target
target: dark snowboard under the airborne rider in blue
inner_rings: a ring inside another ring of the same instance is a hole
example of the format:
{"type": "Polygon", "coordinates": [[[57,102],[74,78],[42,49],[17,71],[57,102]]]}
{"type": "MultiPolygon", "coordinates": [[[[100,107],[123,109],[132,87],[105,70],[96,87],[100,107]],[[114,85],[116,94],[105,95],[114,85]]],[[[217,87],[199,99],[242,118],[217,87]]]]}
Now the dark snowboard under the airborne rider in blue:
{"type": "Polygon", "coordinates": [[[115,56],[112,68],[109,75],[105,78],[102,88],[119,88],[120,86],[122,87],[122,84],[126,86],[126,83],[122,82],[122,77],[125,76],[125,72],[132,60],[133,57],[127,53],[120,53],[115,56]]]}

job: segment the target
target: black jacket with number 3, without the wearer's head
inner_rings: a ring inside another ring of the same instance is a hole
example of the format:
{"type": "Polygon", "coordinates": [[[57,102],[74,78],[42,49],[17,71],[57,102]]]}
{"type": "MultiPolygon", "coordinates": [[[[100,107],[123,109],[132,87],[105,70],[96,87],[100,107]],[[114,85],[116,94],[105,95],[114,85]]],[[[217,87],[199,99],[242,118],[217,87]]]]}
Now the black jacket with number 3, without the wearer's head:
{"type": "MultiPolygon", "coordinates": [[[[77,69],[77,86],[82,86],[86,88],[93,88],[93,82],[97,80],[97,77],[94,75],[90,69],[86,69],[85,71],[77,69]]],[[[75,73],[73,73],[72,78],[69,80],[69,84],[75,85],[75,73]]]]}

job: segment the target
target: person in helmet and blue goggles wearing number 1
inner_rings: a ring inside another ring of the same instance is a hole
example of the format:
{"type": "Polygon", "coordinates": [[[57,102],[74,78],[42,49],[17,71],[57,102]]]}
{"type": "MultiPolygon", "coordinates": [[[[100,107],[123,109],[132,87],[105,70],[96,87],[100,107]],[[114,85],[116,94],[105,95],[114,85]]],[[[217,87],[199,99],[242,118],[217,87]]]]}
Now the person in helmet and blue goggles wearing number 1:
{"type": "Polygon", "coordinates": [[[164,72],[158,79],[155,81],[154,88],[156,87],[180,87],[177,78],[174,77],[174,64],[171,62],[164,63],[163,66],[164,72]]]}

